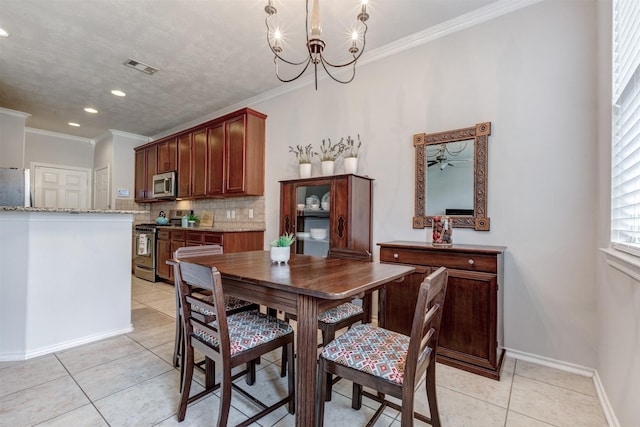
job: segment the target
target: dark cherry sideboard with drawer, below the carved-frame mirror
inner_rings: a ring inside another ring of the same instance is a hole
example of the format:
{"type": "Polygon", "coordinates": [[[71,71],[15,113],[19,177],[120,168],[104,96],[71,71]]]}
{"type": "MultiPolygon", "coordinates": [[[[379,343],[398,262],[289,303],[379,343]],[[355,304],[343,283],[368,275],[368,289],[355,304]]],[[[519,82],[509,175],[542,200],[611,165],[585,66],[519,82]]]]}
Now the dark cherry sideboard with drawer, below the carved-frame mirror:
{"type": "Polygon", "coordinates": [[[381,318],[385,327],[410,334],[418,288],[444,266],[449,271],[438,361],[500,379],[503,348],[503,257],[505,247],[394,241],[378,243],[380,262],[407,264],[415,273],[387,285],[381,318]]]}

